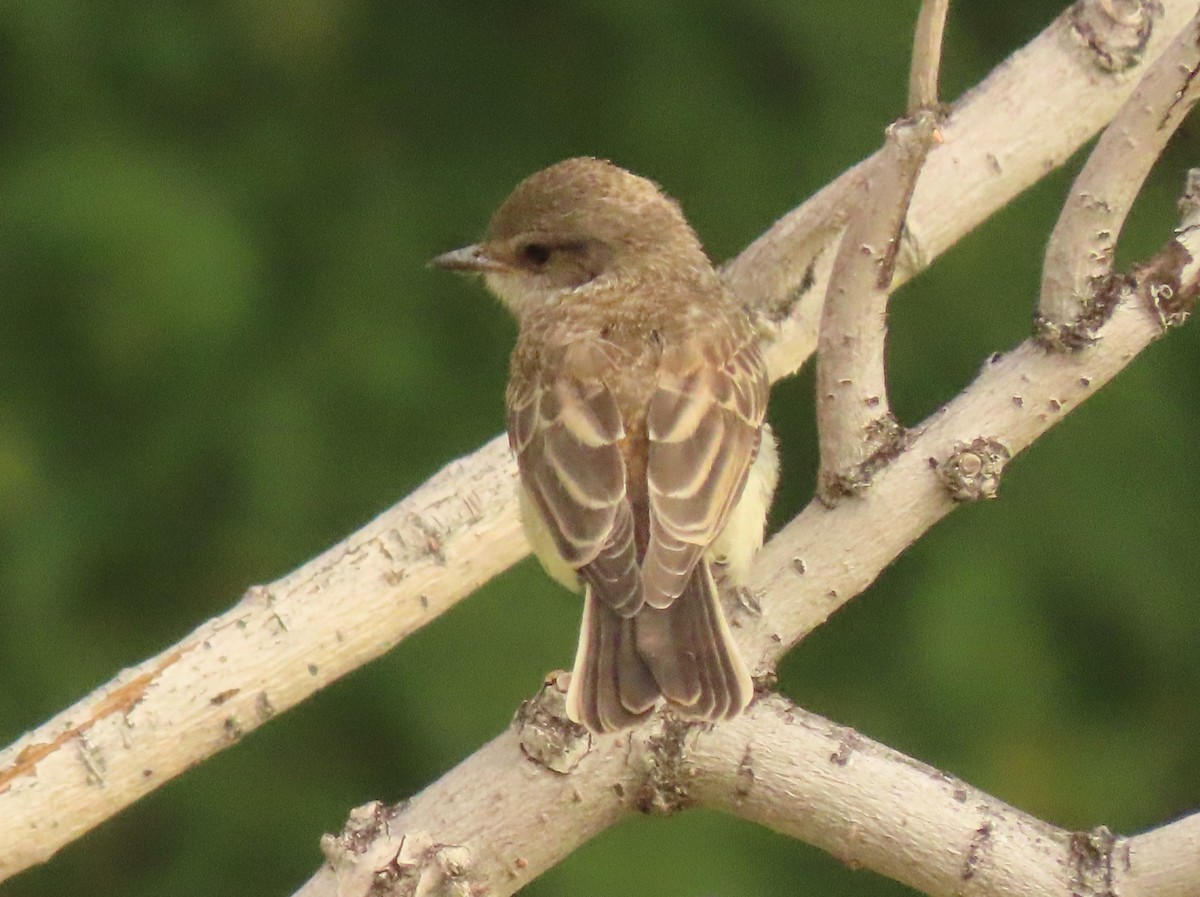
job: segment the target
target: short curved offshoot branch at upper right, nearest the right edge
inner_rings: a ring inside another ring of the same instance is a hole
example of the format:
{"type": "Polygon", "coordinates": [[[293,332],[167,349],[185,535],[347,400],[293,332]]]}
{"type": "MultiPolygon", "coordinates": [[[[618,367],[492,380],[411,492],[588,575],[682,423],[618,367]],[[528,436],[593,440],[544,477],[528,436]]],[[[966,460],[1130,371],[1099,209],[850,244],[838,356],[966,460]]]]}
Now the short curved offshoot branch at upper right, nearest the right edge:
{"type": "Polygon", "coordinates": [[[1200,97],[1198,70],[1200,13],[1151,66],[1072,186],[1042,277],[1039,326],[1048,345],[1086,344],[1103,319],[1088,299],[1112,272],[1117,237],[1146,175],[1200,97]]]}

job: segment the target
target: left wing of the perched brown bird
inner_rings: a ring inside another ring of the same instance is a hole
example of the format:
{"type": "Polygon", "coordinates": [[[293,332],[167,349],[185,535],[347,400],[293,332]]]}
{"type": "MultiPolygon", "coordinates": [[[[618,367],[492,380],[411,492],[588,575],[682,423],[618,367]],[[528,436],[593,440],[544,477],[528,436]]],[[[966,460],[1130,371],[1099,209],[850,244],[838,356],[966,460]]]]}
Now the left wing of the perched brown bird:
{"type": "Polygon", "coordinates": [[[598,598],[630,616],[642,607],[642,583],[620,450],[625,427],[606,385],[614,361],[596,341],[560,353],[538,375],[510,380],[509,443],[563,560],[598,598]]]}

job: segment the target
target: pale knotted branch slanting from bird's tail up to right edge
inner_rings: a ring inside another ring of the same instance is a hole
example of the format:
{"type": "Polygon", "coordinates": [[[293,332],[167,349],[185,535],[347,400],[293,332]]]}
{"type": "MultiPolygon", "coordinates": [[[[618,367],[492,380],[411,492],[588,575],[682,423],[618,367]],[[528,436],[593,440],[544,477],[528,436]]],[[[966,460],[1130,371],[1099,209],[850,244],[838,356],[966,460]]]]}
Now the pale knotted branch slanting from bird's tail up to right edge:
{"type": "MultiPolygon", "coordinates": [[[[1001,464],[1108,383],[1142,349],[1182,323],[1200,291],[1200,173],[1189,171],[1171,240],[1105,300],[1109,318],[1078,353],[1049,353],[1027,339],[988,360],[964,392],[925,421],[905,452],[858,500],[829,510],[811,502],[773,538],[755,564],[751,589],[761,616],[737,620],[743,651],[760,672],[774,667],[794,640],[824,622],[880,571],[955,506],[935,476],[964,451],[1001,464]],[[982,446],[982,447],[980,447],[982,446]]],[[[980,498],[994,496],[1000,471],[983,458],[980,498]]]]}

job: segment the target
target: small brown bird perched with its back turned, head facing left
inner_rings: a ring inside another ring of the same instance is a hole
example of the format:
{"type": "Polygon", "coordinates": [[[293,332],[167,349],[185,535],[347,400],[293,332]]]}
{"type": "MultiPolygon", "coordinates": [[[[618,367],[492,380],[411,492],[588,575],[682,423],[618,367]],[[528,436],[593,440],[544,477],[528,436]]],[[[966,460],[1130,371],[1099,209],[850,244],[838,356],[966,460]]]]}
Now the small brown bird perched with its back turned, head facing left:
{"type": "Polygon", "coordinates": [[[736,585],[762,544],[769,381],[678,204],[571,158],[431,264],[481,273],[520,325],[506,410],[523,522],[547,572],[584,590],[568,715],[602,733],[660,697],[696,720],[742,712],[752,686],[713,566],[736,585]]]}

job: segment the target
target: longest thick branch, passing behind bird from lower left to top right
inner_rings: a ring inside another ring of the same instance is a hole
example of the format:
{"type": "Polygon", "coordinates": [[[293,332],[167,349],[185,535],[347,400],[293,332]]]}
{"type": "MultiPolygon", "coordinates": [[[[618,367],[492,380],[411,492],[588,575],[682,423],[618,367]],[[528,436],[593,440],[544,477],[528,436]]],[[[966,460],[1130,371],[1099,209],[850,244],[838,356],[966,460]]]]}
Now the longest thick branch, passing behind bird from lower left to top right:
{"type": "MultiPolygon", "coordinates": [[[[1183,0],[1163,6],[1160,26],[1138,44],[1151,58],[1194,12],[1183,0]]],[[[908,228],[920,249],[901,259],[906,276],[1061,163],[1128,95],[1130,80],[1097,74],[1096,60],[1111,55],[1105,35],[1079,40],[1075,23],[1060,18],[959,103],[913,197],[908,228]]],[[[823,281],[804,302],[792,299],[821,257],[820,237],[838,227],[840,189],[822,191],[727,269],[776,325],[775,377],[812,350],[823,281]]],[[[0,880],[378,656],[522,556],[514,492],[514,465],[493,440],[0,752],[0,880]]]]}

